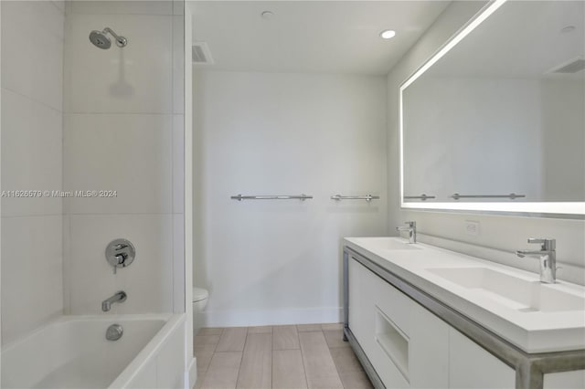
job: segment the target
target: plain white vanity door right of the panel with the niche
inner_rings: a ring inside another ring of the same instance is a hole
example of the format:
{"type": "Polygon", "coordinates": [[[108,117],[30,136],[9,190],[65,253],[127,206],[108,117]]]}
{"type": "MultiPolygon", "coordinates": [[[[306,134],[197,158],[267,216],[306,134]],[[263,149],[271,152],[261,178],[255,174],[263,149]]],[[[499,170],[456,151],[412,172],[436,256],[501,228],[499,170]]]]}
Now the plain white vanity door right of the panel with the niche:
{"type": "Polygon", "coordinates": [[[463,333],[449,331],[449,387],[514,389],[516,371],[486,352],[463,333]]]}

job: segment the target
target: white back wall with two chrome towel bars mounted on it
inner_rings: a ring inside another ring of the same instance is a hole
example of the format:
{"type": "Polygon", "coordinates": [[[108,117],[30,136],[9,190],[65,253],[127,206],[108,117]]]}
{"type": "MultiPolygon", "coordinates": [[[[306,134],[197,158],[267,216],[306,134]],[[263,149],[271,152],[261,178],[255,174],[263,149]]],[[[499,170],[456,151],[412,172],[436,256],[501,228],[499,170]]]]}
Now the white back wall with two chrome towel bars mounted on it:
{"type": "Polygon", "coordinates": [[[209,71],[194,88],[206,324],[339,321],[340,237],[388,228],[385,79],[209,71]],[[301,193],[314,199],[229,198],[301,193]],[[329,198],[367,193],[381,199],[329,198]]]}

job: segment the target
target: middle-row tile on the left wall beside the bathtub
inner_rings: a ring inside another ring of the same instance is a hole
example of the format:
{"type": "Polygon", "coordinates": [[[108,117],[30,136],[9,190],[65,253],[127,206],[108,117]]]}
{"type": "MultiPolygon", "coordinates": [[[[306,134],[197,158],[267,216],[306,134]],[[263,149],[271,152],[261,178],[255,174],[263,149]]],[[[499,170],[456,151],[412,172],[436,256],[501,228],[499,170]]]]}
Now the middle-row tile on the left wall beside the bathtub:
{"type": "MultiPolygon", "coordinates": [[[[62,114],[2,89],[2,189],[60,190],[62,114]]],[[[62,200],[2,199],[3,216],[60,215],[62,200]]]]}

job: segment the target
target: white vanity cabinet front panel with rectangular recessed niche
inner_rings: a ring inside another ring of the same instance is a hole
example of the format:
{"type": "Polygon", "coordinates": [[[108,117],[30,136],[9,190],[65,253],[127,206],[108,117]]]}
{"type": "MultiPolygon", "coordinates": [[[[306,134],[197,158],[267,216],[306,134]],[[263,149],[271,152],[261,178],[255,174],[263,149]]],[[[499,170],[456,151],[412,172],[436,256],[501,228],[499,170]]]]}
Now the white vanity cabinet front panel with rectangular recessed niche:
{"type": "Polygon", "coordinates": [[[355,260],[349,272],[349,326],[386,387],[446,388],[449,326],[355,260]]]}

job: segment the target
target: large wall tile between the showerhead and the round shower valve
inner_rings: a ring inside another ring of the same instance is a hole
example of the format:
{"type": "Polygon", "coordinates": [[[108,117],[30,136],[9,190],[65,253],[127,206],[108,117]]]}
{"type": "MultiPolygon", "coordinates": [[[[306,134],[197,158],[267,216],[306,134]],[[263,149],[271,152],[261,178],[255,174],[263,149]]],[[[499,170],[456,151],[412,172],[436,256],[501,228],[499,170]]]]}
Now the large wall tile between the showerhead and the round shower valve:
{"type": "Polygon", "coordinates": [[[66,115],[65,190],[115,190],[69,198],[71,214],[172,212],[171,115],[66,115]]]}

